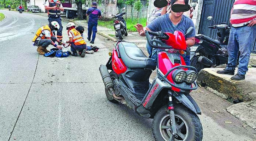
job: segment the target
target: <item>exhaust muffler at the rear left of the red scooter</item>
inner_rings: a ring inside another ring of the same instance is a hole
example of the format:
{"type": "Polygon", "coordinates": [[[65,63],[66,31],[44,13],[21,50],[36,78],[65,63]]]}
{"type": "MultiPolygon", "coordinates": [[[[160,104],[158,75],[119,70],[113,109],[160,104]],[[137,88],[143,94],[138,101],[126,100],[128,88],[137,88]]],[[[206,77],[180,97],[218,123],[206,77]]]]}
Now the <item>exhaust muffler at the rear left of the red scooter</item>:
{"type": "Polygon", "coordinates": [[[109,75],[109,71],[107,70],[107,67],[105,65],[100,65],[100,74],[102,75],[102,80],[104,82],[105,88],[107,90],[110,90],[110,88],[114,88],[113,81],[109,75]]]}

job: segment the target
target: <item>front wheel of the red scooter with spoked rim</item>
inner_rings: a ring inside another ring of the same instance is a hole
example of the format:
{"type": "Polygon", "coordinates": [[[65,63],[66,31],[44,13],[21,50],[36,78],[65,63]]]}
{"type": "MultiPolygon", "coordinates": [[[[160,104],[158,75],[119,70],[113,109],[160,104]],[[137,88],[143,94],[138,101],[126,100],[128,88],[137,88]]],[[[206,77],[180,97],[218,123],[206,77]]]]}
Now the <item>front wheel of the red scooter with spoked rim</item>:
{"type": "MultiPolygon", "coordinates": [[[[198,116],[184,105],[175,105],[177,134],[175,141],[202,141],[203,128],[198,116]]],[[[171,134],[170,114],[167,105],[160,108],[154,116],[153,135],[156,141],[169,141],[171,134]]]]}

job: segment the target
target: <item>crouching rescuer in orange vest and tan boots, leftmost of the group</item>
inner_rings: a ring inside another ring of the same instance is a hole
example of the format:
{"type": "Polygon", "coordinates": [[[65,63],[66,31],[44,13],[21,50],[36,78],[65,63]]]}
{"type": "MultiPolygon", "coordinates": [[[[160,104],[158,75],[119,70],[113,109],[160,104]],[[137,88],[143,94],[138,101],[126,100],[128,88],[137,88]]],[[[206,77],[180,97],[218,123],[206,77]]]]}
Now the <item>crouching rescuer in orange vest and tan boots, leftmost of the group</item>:
{"type": "Polygon", "coordinates": [[[45,53],[49,52],[46,49],[49,45],[62,49],[60,45],[55,44],[56,41],[62,45],[65,45],[53,35],[53,33],[55,33],[55,31],[58,29],[60,29],[60,25],[56,21],[53,21],[51,22],[51,25],[42,26],[36,31],[36,35],[32,41],[34,42],[34,45],[38,47],[36,51],[40,55],[44,55],[45,53]]]}

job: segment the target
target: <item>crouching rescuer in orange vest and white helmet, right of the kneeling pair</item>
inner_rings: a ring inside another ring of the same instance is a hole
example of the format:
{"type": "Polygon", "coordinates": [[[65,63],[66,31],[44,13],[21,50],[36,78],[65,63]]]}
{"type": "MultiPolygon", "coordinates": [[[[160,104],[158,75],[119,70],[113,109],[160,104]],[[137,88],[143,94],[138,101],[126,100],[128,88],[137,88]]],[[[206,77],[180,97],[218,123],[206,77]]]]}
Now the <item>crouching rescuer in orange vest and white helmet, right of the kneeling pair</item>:
{"type": "Polygon", "coordinates": [[[87,45],[82,35],[75,29],[75,24],[72,22],[69,22],[67,24],[67,30],[68,30],[68,37],[70,39],[69,41],[67,41],[67,43],[71,44],[71,51],[72,51],[71,55],[78,56],[77,55],[77,51],[78,51],[81,57],[85,57],[87,45]]]}

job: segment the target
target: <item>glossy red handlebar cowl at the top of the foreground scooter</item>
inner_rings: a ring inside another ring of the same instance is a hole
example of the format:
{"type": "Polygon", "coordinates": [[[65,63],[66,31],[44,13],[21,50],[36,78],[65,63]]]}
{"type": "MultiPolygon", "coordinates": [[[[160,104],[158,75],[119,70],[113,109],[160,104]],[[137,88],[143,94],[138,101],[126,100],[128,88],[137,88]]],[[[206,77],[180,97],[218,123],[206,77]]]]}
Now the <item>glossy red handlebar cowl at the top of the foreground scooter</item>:
{"type": "Polygon", "coordinates": [[[169,36],[168,40],[163,39],[167,45],[174,49],[186,50],[186,39],[181,31],[174,31],[174,34],[166,32],[165,34],[169,36]]]}

